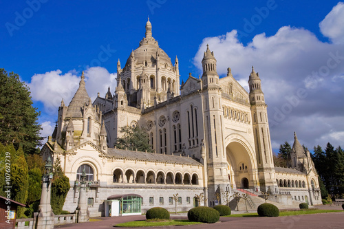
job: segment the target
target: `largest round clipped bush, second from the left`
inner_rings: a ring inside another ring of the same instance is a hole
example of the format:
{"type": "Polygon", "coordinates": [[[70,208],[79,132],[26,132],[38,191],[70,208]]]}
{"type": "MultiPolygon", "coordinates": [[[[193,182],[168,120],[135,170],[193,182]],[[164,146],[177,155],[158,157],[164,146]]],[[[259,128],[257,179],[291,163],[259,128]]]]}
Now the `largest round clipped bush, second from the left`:
{"type": "Polygon", "coordinates": [[[202,223],[216,223],[219,221],[219,212],[210,207],[195,207],[188,212],[189,221],[202,223]]]}

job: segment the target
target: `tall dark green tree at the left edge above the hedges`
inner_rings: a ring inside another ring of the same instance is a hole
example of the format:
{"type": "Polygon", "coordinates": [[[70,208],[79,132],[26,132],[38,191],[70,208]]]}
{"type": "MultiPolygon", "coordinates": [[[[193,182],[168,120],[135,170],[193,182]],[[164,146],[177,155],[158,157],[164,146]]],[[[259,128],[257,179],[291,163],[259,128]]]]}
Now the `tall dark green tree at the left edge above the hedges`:
{"type": "Polygon", "coordinates": [[[18,74],[0,68],[0,142],[23,147],[25,153],[37,153],[41,144],[37,122],[39,113],[32,107],[30,91],[18,74]]]}

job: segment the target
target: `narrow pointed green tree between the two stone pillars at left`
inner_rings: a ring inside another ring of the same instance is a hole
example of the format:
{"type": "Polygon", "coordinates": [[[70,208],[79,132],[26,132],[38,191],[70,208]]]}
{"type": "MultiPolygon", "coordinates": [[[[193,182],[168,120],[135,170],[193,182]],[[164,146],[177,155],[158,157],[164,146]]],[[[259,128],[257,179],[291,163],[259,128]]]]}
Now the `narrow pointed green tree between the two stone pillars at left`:
{"type": "Polygon", "coordinates": [[[55,215],[60,215],[62,212],[63,204],[65,204],[65,197],[69,191],[69,178],[65,176],[61,168],[60,157],[54,160],[54,171],[52,179],[52,193],[50,203],[52,211],[55,215]]]}

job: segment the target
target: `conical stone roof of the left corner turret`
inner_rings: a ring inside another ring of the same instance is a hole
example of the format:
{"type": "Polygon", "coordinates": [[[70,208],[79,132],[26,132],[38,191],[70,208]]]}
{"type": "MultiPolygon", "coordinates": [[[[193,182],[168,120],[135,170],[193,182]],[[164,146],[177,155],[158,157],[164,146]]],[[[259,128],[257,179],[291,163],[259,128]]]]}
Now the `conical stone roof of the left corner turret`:
{"type": "Polygon", "coordinates": [[[87,94],[86,88],[85,88],[85,76],[82,74],[81,80],[79,83],[79,88],[74,94],[74,97],[69,102],[66,117],[72,117],[72,118],[82,118],[83,113],[81,111],[81,108],[85,105],[85,103],[89,104],[89,95],[87,94]]]}

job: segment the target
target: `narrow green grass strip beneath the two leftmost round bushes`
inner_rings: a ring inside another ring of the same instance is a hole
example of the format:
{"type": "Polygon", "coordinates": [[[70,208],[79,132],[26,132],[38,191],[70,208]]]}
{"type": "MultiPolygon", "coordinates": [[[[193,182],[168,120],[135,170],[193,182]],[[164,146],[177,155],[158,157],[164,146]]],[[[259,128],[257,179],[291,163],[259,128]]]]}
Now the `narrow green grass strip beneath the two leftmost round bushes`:
{"type": "Polygon", "coordinates": [[[201,224],[199,222],[191,222],[187,219],[174,219],[174,220],[164,220],[164,221],[131,221],[127,223],[118,223],[114,227],[124,227],[124,228],[138,228],[138,227],[153,227],[153,226],[184,226],[192,224],[201,224]]]}

